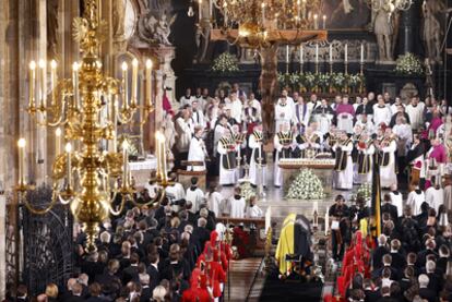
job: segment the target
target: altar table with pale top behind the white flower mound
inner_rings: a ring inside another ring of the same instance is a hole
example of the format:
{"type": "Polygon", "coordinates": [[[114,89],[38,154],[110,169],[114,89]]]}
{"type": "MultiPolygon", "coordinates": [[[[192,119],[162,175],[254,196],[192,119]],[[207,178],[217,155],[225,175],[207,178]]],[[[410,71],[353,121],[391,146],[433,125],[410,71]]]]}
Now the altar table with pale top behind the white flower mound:
{"type": "Polygon", "coordinates": [[[334,158],[282,158],[279,168],[283,170],[284,195],[286,195],[294,179],[302,169],[310,169],[323,186],[325,197],[331,196],[333,188],[334,158]]]}

